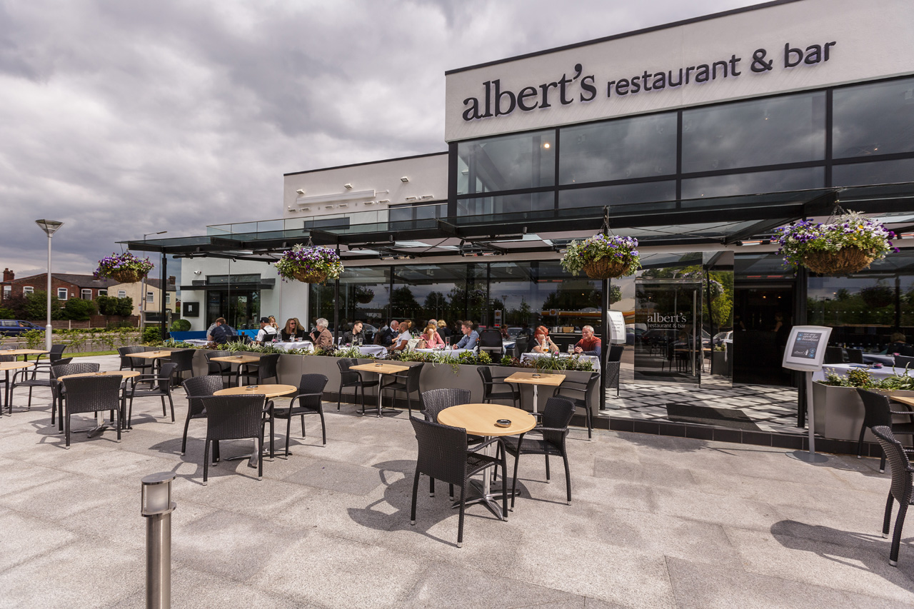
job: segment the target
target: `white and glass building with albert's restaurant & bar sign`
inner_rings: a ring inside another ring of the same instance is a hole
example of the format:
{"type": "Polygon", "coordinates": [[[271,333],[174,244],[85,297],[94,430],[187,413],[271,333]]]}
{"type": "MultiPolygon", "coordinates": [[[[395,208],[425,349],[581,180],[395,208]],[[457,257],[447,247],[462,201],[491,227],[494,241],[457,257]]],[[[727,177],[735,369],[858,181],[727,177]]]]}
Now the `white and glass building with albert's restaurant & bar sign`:
{"type": "Polygon", "coordinates": [[[130,247],[192,259],[195,329],[469,318],[561,345],[601,330],[603,284],[559,260],[608,219],[641,244],[609,287],[636,380],[790,385],[792,325],[914,339],[912,39],[909,0],[792,0],[453,69],[446,151],[286,174],[281,219],[130,247]],[[836,206],[901,251],[850,276],[786,268],[772,231],[836,206]],[[309,239],[340,251],[338,285],[276,281],[269,262],[309,239]]]}

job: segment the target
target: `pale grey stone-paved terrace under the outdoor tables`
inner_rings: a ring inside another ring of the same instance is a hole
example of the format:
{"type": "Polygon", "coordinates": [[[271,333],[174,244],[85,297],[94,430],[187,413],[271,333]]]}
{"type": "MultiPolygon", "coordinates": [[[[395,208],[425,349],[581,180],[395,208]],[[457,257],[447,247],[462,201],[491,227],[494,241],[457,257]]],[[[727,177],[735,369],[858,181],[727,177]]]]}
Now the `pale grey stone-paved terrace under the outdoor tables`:
{"type": "MultiPolygon", "coordinates": [[[[404,413],[325,404],[326,447],[311,417],[262,481],[246,461],[222,462],[201,486],[205,423],[191,422],[180,456],[175,394],[174,424],[146,399],[122,443],[78,433],[69,451],[48,392],[0,419],[0,607],[143,606],[140,478],[158,471],[178,476],[175,607],[914,604],[910,536],[888,565],[888,475],[875,459],[806,465],[771,448],[605,431],[588,442],[574,430],[573,504],[561,467],[546,484],[542,460],[526,456],[515,511],[499,522],[468,508],[458,549],[441,484],[430,498],[423,478],[409,526],[416,443],[404,413]]],[[[225,443],[223,456],[249,447],[225,443]]]]}

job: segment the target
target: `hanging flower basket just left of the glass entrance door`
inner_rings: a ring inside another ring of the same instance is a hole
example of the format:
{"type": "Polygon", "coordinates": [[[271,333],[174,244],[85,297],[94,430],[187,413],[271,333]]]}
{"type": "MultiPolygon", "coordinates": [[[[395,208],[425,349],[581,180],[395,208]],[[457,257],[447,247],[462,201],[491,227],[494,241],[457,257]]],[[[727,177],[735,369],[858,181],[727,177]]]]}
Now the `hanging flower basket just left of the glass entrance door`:
{"type": "Polygon", "coordinates": [[[626,277],[641,268],[638,240],[599,234],[583,241],[571,241],[561,264],[572,275],[583,271],[590,279],[626,277]]]}

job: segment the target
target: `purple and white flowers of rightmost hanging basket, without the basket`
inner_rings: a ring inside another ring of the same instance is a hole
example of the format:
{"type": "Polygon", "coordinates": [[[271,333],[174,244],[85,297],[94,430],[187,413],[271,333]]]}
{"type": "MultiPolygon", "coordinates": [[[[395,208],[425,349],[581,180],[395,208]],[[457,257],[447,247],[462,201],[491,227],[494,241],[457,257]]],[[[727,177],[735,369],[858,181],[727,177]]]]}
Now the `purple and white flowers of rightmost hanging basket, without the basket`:
{"type": "Polygon", "coordinates": [[[895,233],[887,230],[882,223],[868,219],[856,211],[850,211],[834,218],[828,224],[816,224],[812,220],[800,220],[790,226],[777,229],[778,253],[784,262],[799,266],[803,257],[813,251],[841,251],[858,248],[868,252],[876,260],[886,257],[889,251],[898,251],[891,239],[895,233]]]}

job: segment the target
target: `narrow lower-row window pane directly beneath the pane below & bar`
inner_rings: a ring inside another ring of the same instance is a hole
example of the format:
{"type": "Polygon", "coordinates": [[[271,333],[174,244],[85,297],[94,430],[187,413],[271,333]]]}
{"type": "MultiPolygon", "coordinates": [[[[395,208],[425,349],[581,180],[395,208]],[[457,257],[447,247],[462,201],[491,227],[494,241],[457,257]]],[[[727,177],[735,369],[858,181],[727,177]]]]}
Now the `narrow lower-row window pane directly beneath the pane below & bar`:
{"type": "Polygon", "coordinates": [[[825,186],[824,167],[757,171],[683,180],[682,198],[733,197],[825,186]]]}

